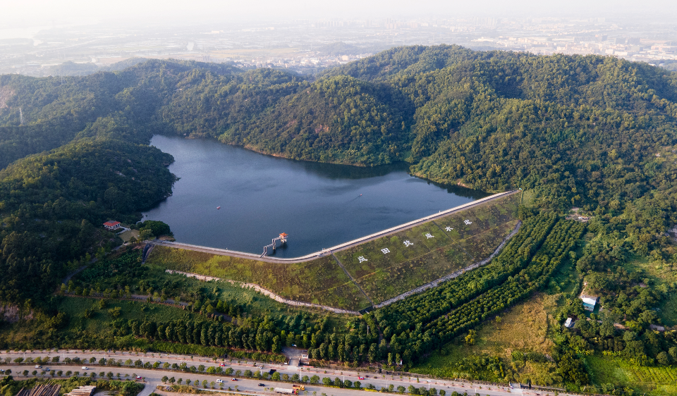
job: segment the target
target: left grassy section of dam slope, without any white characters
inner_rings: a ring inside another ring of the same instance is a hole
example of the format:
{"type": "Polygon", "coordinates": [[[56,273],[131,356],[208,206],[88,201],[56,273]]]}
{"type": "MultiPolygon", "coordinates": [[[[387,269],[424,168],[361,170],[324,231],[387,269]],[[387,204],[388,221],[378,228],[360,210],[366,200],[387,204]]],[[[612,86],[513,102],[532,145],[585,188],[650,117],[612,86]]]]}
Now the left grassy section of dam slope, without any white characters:
{"type": "Polygon", "coordinates": [[[331,256],[299,264],[274,264],[158,246],[147,263],[256,283],[282,297],[302,302],[345,309],[362,309],[369,305],[331,256]]]}

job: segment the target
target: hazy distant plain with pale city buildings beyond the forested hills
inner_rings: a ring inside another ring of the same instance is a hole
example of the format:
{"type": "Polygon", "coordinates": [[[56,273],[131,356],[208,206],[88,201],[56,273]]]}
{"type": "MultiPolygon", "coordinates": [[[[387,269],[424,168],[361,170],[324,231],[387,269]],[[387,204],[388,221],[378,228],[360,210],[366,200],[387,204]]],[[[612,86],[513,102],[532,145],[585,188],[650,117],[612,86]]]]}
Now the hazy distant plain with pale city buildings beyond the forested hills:
{"type": "Polygon", "coordinates": [[[391,47],[438,44],[539,55],[615,56],[677,68],[677,23],[673,21],[602,16],[409,16],[135,27],[100,23],[0,30],[0,74],[85,75],[138,62],[131,58],[173,58],[317,73],[391,47]],[[23,38],[8,37],[12,34],[23,38]]]}

